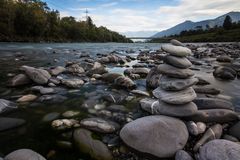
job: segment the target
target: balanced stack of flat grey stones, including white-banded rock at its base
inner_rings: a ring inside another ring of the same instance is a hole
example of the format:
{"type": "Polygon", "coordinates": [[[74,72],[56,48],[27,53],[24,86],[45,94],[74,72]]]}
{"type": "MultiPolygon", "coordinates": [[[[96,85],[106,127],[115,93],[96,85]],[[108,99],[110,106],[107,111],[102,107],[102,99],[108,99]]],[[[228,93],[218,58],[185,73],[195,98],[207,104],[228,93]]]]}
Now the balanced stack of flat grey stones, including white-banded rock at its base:
{"type": "Polygon", "coordinates": [[[191,50],[180,42],[171,41],[172,45],[162,46],[167,52],[164,64],[156,68],[161,74],[160,85],[153,91],[157,99],[145,98],[140,101],[142,109],[151,114],[161,114],[173,117],[188,117],[197,112],[197,106],[192,102],[196,93],[191,87],[198,82],[189,69],[191,62],[186,58],[191,50]]]}

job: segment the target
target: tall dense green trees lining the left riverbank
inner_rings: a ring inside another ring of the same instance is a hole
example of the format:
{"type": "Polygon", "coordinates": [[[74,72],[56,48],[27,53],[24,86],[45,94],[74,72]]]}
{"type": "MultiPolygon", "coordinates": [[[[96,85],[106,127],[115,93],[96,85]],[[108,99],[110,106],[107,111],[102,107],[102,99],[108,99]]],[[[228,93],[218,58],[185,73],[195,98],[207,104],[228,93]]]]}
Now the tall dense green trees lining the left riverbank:
{"type": "Polygon", "coordinates": [[[0,0],[0,41],[131,42],[125,36],[97,27],[92,19],[60,18],[40,0],[0,0]]]}

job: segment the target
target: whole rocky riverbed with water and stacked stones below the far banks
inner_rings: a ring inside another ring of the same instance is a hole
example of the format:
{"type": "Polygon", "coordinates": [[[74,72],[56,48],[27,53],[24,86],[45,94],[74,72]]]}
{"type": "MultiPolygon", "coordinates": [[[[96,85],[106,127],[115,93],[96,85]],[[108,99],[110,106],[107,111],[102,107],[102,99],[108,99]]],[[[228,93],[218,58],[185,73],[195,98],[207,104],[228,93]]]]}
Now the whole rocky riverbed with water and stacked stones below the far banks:
{"type": "Polygon", "coordinates": [[[1,45],[0,159],[240,159],[239,43],[1,45]]]}

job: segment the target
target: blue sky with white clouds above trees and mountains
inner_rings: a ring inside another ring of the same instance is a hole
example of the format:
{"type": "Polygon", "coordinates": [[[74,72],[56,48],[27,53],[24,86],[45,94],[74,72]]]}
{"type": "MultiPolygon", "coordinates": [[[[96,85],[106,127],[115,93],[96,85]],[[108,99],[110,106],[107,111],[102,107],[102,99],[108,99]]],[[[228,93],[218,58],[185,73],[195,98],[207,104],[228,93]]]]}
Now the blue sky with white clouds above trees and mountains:
{"type": "Polygon", "coordinates": [[[131,35],[154,34],[182,23],[216,18],[240,11],[240,0],[43,0],[61,17],[85,20],[85,11],[97,26],[131,35]]]}

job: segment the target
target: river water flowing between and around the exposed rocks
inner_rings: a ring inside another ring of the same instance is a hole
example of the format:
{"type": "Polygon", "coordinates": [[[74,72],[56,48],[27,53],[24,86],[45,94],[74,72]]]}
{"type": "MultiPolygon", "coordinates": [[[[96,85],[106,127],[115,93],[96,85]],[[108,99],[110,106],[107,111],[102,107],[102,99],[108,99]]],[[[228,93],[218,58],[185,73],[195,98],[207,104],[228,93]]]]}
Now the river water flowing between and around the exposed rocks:
{"type": "MultiPolygon", "coordinates": [[[[131,55],[136,57],[141,50],[157,50],[161,44],[157,43],[0,43],[0,98],[15,101],[19,96],[28,93],[28,87],[8,88],[9,73],[19,73],[22,65],[34,67],[64,66],[67,61],[78,61],[82,53],[96,56],[115,52],[120,56],[131,55]],[[24,58],[21,59],[22,55],[24,58]]],[[[132,61],[128,65],[137,63],[132,61]]],[[[240,109],[240,80],[221,81],[212,76],[212,70],[207,66],[194,66],[200,70],[195,71],[211,84],[223,91],[222,94],[231,96],[236,110],[240,109]]],[[[125,67],[108,66],[109,72],[122,73],[125,67]]],[[[145,80],[137,80],[138,89],[146,90],[145,80]]],[[[24,127],[7,132],[0,132],[0,157],[20,148],[31,148],[45,157],[54,153],[53,160],[88,159],[79,155],[75,150],[61,150],[55,141],[58,134],[52,131],[50,123],[43,122],[45,115],[52,112],[63,113],[67,110],[80,110],[81,118],[87,117],[88,112],[82,110],[81,105],[88,93],[95,90],[103,91],[107,85],[85,84],[79,90],[63,91],[60,94],[68,97],[62,103],[21,104],[19,110],[8,114],[8,117],[22,118],[27,121],[24,127]]],[[[126,104],[131,110],[135,103],[126,104]]],[[[51,157],[51,156],[49,156],[51,157]]]]}

